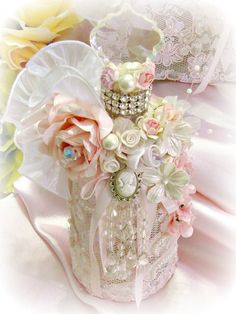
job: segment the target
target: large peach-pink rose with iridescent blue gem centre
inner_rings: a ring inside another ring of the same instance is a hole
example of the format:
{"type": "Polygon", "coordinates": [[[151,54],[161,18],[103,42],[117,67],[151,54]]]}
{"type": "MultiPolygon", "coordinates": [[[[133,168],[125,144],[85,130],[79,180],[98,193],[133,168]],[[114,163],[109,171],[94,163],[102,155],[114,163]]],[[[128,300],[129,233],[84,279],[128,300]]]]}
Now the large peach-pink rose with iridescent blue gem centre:
{"type": "Polygon", "coordinates": [[[101,139],[112,129],[107,113],[104,111],[100,121],[96,114],[84,110],[89,110],[87,104],[61,95],[56,95],[46,108],[47,115],[38,124],[43,141],[41,151],[59,161],[72,180],[78,176],[95,176],[101,139]],[[105,134],[104,126],[107,127],[105,134]]]}

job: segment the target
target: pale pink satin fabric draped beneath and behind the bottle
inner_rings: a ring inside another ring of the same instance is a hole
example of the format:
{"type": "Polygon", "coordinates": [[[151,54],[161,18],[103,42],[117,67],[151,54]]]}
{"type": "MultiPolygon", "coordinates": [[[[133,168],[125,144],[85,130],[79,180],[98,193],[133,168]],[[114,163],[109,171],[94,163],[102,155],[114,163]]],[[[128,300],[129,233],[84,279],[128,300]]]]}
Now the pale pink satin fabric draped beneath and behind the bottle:
{"type": "MultiPolygon", "coordinates": [[[[158,96],[185,98],[188,87],[161,82],[155,84],[154,91],[158,96]]],[[[92,297],[76,281],[70,262],[65,202],[26,178],[16,182],[15,195],[0,201],[1,304],[7,302],[8,310],[16,305],[18,311],[27,312],[30,307],[30,313],[50,314],[234,313],[235,96],[235,85],[221,84],[208,86],[200,95],[189,98],[192,110],[205,120],[191,149],[192,181],[197,187],[193,200],[195,231],[191,238],[179,241],[179,262],[173,278],[159,293],[143,301],[139,312],[135,303],[92,297]]]]}

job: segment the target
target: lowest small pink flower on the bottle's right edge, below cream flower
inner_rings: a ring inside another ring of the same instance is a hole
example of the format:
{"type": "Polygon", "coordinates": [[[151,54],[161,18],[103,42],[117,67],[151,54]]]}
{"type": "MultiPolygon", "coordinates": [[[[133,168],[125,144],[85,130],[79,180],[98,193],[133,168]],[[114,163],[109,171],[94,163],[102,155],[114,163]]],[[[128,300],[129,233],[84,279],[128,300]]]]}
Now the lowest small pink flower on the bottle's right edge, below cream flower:
{"type": "Polygon", "coordinates": [[[193,234],[193,220],[194,216],[191,212],[190,204],[180,204],[179,208],[168,215],[161,224],[161,231],[168,232],[177,238],[180,236],[184,238],[191,237],[193,234]]]}

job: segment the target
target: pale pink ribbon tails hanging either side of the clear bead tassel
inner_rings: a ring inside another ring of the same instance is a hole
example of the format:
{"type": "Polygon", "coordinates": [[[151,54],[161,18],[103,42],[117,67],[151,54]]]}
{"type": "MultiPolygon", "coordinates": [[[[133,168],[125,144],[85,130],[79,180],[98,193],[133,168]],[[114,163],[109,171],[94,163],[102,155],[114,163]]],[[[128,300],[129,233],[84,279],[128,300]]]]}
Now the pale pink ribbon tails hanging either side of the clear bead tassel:
{"type": "MultiPolygon", "coordinates": [[[[94,244],[95,244],[95,236],[97,229],[99,227],[99,223],[101,218],[105,214],[107,207],[109,206],[112,200],[112,194],[109,187],[109,174],[101,174],[95,179],[92,179],[87,184],[83,186],[81,189],[81,197],[84,200],[88,200],[91,197],[95,196],[96,199],[96,207],[93,211],[91,223],[90,223],[90,234],[89,234],[89,255],[90,255],[90,287],[91,291],[94,295],[101,295],[101,274],[100,267],[97,261],[95,252],[94,252],[94,244]]],[[[148,202],[146,197],[146,186],[142,186],[141,189],[141,206],[145,211],[145,215],[147,216],[147,226],[146,235],[147,238],[150,237],[153,222],[155,221],[156,215],[156,204],[151,204],[148,202]],[[148,213],[148,215],[147,215],[148,213]]],[[[140,226],[141,221],[140,217],[137,218],[137,228],[140,226]]],[[[100,238],[100,236],[99,236],[100,238]]],[[[137,253],[140,256],[142,252],[142,234],[137,234],[137,253]]],[[[100,240],[99,240],[100,243],[100,240]]],[[[143,279],[144,279],[144,268],[141,265],[137,265],[136,267],[136,278],[135,278],[135,301],[137,307],[139,308],[140,303],[143,298],[143,279]]]]}

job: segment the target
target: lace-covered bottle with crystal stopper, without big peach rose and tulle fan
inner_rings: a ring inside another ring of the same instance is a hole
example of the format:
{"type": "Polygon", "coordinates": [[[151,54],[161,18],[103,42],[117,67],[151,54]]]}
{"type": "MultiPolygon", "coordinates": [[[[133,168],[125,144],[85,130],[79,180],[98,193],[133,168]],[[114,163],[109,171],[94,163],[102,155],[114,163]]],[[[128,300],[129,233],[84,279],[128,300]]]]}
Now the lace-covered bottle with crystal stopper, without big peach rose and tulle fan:
{"type": "Polygon", "coordinates": [[[91,33],[113,126],[96,176],[71,182],[72,265],[91,294],[120,302],[140,303],[162,288],[178,237],[192,233],[191,127],[180,101],[152,96],[152,61],[163,44],[155,23],[127,6],[91,33]]]}

